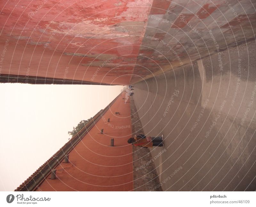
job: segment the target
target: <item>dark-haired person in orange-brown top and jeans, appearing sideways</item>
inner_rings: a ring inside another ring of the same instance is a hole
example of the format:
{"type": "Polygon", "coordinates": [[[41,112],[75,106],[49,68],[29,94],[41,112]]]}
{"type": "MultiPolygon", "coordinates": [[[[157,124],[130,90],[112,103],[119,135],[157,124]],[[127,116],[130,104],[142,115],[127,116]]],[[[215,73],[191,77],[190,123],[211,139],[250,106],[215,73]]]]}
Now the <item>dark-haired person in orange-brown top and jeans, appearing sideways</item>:
{"type": "Polygon", "coordinates": [[[127,141],[129,144],[140,147],[163,147],[164,146],[164,135],[161,137],[146,137],[143,134],[135,135],[127,141]]]}

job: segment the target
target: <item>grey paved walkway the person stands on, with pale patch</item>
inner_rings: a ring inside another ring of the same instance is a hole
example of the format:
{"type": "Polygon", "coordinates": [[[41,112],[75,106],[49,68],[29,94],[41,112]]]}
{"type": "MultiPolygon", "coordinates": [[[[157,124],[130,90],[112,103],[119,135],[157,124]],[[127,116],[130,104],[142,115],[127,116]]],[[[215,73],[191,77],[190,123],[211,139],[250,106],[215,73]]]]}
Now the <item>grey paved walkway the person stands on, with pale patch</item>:
{"type": "Polygon", "coordinates": [[[151,150],[166,149],[155,161],[164,191],[256,189],[255,50],[246,42],[134,84],[145,134],[165,137],[151,150]]]}

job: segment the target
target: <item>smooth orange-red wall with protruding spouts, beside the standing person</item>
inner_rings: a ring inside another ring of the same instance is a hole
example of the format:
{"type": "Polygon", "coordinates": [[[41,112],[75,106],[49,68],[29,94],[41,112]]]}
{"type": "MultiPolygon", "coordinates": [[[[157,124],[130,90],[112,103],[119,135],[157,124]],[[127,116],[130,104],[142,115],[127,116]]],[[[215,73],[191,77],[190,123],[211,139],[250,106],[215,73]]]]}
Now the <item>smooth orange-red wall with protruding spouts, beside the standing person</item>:
{"type": "Polygon", "coordinates": [[[133,189],[132,146],[129,100],[125,93],[56,167],[57,179],[49,175],[37,191],[129,191],[133,189]],[[120,112],[121,115],[116,115],[120,112]],[[110,118],[110,122],[107,122],[110,118]],[[109,125],[108,125],[109,124],[109,125]],[[104,129],[104,134],[100,130],[104,129]],[[110,147],[114,138],[115,147],[110,147]]]}

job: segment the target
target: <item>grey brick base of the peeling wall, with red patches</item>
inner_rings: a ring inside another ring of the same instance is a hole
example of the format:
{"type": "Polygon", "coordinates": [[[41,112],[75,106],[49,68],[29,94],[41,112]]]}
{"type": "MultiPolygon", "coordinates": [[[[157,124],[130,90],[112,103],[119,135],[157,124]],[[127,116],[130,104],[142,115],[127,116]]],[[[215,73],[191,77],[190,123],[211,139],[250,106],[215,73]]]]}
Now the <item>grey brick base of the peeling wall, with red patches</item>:
{"type": "Polygon", "coordinates": [[[155,0],[131,82],[255,40],[255,5],[247,0],[155,0]]]}

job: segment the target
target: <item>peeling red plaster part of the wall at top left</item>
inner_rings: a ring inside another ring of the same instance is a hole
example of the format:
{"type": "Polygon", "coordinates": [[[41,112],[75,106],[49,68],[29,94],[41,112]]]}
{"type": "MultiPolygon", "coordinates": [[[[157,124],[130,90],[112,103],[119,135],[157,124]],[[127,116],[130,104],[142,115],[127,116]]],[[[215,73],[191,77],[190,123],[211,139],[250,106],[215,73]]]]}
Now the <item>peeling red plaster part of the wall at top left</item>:
{"type": "MultiPolygon", "coordinates": [[[[152,1],[48,0],[38,11],[43,1],[11,1],[6,5],[1,1],[0,47],[10,40],[1,73],[27,75],[29,68],[29,76],[63,78],[68,66],[68,79],[92,81],[98,67],[82,64],[101,59],[65,53],[117,55],[121,58],[113,63],[135,64],[148,21],[144,14],[149,14],[152,1]],[[131,14],[135,16],[129,16],[131,14]],[[127,22],[130,24],[126,26],[127,22]],[[49,40],[51,43],[44,48],[49,40]],[[128,46],[120,47],[123,45],[128,46]]],[[[117,78],[118,73],[107,74],[113,68],[101,70],[93,81],[129,84],[129,76],[117,78]]],[[[119,76],[126,72],[132,74],[131,66],[128,68],[127,72],[123,67],[124,72],[119,76]]]]}

